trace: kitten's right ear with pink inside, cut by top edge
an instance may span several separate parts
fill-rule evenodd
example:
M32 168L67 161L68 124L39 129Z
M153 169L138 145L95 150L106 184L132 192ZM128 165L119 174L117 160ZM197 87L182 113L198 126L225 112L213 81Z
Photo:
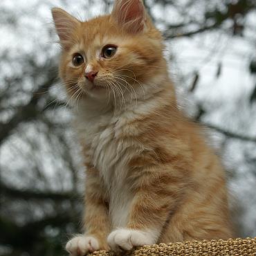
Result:
M146 12L143 0L116 0L111 16L128 33L139 33L145 28Z

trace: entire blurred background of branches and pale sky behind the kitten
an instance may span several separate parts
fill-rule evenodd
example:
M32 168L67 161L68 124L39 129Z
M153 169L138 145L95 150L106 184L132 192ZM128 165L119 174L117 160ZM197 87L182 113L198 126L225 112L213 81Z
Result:
M80 231L83 167L57 78L51 8L88 19L112 1L1 0L0 255L66 255ZM237 237L256 236L256 1L147 0L180 107L209 127Z

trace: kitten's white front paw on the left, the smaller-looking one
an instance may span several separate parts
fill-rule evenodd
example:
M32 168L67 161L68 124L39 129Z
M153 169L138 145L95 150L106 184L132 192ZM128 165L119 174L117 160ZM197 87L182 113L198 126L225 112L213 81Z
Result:
M66 243L66 250L72 256L83 256L99 250L99 243L94 237L79 235Z

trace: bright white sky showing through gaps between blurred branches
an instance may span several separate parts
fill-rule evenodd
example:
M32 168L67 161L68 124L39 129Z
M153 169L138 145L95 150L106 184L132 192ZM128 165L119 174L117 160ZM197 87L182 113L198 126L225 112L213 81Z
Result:
M88 6L88 1L82 0L1 0L0 9L5 9L6 15L13 12L17 17L17 26L11 26L4 21L5 17L0 19L3 23L0 26L0 54L8 53L11 57L10 62L1 64L0 80L4 75L12 76L23 72L21 60L24 55L34 55L38 62L44 63L49 56L58 53L59 48L53 44L57 36L48 35L48 30L53 28L52 7L65 8L76 17L83 18L99 14L102 10L100 5L88 10L86 3ZM160 10L161 8L156 7L154 14L158 16ZM196 10L192 10L193 12ZM165 14L167 19L179 23L179 17L173 10L165 10ZM252 29L246 30L246 35L255 39L256 12L248 15L247 23ZM249 62L256 55L255 41L248 42L238 37L231 38L227 33L212 32L192 39L174 39L167 44L167 51L172 53L175 59L175 65L170 65L170 72L177 86L183 90L188 88L191 84L190 74L199 70L199 84L192 99L188 100L202 102L208 109L204 120L230 131L246 133L248 136L256 136L256 105L248 105L248 98L256 84L256 77L248 71ZM216 78L219 62L222 63L222 70L220 77ZM181 84L180 78L186 76L187 82ZM241 158L239 163L243 160L243 145L239 141L228 145L226 157L230 167L237 167L237 158ZM256 179L243 165L237 172L239 179L232 181L230 185L247 209L245 217L248 217L248 221L245 225L250 230L253 225L256 226ZM251 232L256 235L256 230Z

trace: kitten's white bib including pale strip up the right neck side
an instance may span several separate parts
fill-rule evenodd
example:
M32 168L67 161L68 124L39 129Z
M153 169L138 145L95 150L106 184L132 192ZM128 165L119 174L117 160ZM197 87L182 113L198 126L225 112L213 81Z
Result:
M134 139L138 127L134 120L155 111L161 104L161 97L138 100L129 104L122 113L113 113L106 102L80 102L77 110L76 128L86 145L86 156L100 173L109 194L109 213L113 227L125 227L129 208L134 198L127 182L127 163L145 150L144 145Z

